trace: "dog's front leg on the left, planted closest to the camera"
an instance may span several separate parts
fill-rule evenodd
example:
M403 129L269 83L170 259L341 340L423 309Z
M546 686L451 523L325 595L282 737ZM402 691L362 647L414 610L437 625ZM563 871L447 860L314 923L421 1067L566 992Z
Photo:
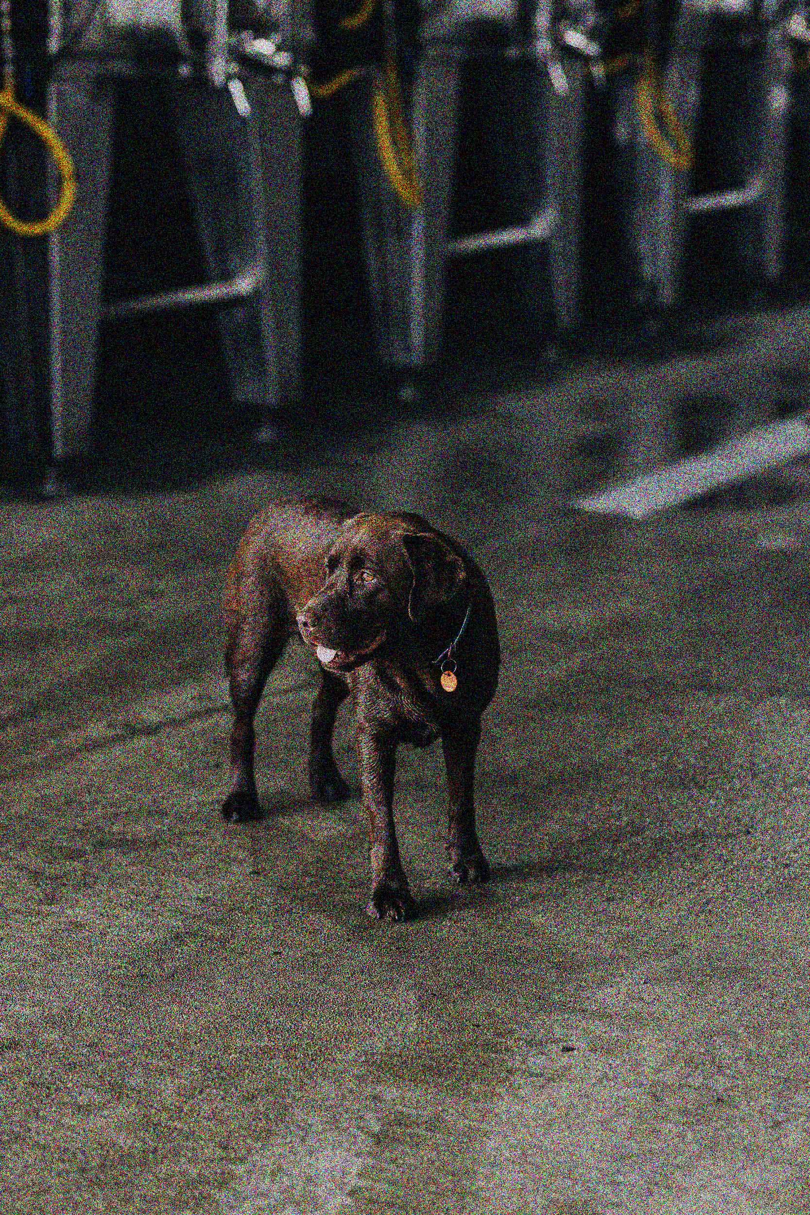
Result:
M372 898L367 911L375 920L406 920L414 904L393 825L396 741L380 729L358 723L357 756L372 844Z

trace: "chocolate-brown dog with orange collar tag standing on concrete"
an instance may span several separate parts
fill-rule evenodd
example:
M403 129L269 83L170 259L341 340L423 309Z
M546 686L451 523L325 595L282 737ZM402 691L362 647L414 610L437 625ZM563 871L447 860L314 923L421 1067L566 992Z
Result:
M349 796L332 751L335 714L351 693L372 844L369 915L413 910L393 825L400 742L441 736L449 784L447 850L458 882L483 882L472 781L481 714L500 652L486 578L454 541L418 515L358 514L322 499L272 504L239 544L225 598L234 720L233 786L222 814L259 816L254 716L267 676L296 632L321 662L310 782L319 802Z

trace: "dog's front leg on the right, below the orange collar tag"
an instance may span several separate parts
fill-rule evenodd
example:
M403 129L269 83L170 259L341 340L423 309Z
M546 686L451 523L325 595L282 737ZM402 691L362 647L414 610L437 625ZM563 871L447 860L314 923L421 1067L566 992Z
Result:
M489 877L489 865L475 830L475 756L480 738L480 718L442 730L451 801L447 854L451 876L460 885L486 882Z

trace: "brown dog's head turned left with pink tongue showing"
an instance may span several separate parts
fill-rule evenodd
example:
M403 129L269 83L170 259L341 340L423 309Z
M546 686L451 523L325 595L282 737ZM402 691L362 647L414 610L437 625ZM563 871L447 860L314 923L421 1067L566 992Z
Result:
M351 671L403 626L419 625L466 583L464 561L421 520L356 515L327 554L327 581L298 616L330 671Z

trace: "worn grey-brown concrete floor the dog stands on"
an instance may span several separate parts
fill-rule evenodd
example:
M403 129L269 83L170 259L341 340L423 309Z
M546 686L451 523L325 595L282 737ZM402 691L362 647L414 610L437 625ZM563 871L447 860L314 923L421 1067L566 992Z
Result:
M595 392L806 400L806 332L743 320L188 492L0 505L4 1215L810 1211L810 507L561 509ZM364 915L358 802L307 799L299 649L267 816L217 816L223 569L315 490L423 510L495 593L493 882L451 889L441 756L403 750L404 926ZM355 780L346 720L338 752Z

